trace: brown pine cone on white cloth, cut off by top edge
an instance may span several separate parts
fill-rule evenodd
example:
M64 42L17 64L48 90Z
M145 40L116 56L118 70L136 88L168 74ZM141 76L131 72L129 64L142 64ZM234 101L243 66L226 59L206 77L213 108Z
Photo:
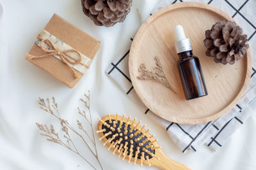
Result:
M84 14L96 25L111 27L123 22L131 10L132 0L81 0Z

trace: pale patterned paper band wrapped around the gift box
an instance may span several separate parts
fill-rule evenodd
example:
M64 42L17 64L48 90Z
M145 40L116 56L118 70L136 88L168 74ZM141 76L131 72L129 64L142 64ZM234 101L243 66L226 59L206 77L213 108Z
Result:
M40 33L40 36L42 37L42 39L49 39L50 41L52 41L52 44L54 46L56 46L57 48L59 48L60 50L72 50L73 48L65 43L63 43L63 41L61 41L60 39L56 38L55 36L53 36L50 32L44 30ZM36 42L35 44L38 45L38 46L41 46L40 43L41 40L40 39L36 39ZM49 46L47 46L45 43L44 43L44 48L47 49L49 48ZM48 49L48 50L51 50L51 49ZM73 67L74 69L76 69L77 71L81 72L81 73L86 73L87 69L90 67L90 65L92 64L92 59L86 57L85 55L83 55L83 53L80 53L79 54L81 55L81 62L78 63L78 64L71 64L70 62L68 62L67 64L71 67ZM70 55L74 58L76 58L77 54L76 53L70 53ZM54 57L56 57L57 59L61 60L60 59L60 56L58 55L53 55Z

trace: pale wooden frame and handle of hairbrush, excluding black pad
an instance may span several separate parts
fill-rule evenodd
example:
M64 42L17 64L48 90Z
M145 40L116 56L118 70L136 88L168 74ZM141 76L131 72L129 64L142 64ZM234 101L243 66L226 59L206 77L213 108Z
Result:
M101 118L101 120L103 120L104 122L107 122L109 120L109 118L111 118L111 120L122 120L121 116L117 116L116 115L108 115L106 117ZM129 122L129 125L132 124L132 120L129 118L124 118L124 122ZM98 124L98 131L102 130L102 122L99 121ZM135 122L135 124L137 124ZM141 129L141 125L138 125L137 129ZM145 129L143 129L141 132L145 133L145 136L147 136L147 138L150 138L150 136L152 136L149 132L146 132ZM104 136L103 132L99 132L99 136L102 137ZM150 138L150 140L152 141L154 138ZM107 141L107 138L103 138L102 139L103 143L105 143ZM127 139L127 141L129 141L129 138ZM106 143L106 145L109 147L111 144L110 143ZM154 143L152 143L152 145L154 145L155 147L159 146L159 144L157 143L157 141L155 141ZM141 146L143 147L143 146ZM145 146L144 146L145 147ZM111 150L114 150L113 147L111 147ZM117 153L118 155L118 153ZM126 159L128 159L128 157L125 157ZM131 159L132 162L134 162L134 157L132 157ZM137 159L136 163L140 164L141 160ZM166 169L166 170L189 170L189 167L180 164L179 162L176 162L175 160L170 159L169 157L167 157L167 155L165 155L165 153L163 152L163 150L161 148L157 148L155 150L155 156L152 157L151 159L149 159L150 162L150 166L156 166L159 167L161 169ZM149 166L148 161L147 160L143 160L143 164Z

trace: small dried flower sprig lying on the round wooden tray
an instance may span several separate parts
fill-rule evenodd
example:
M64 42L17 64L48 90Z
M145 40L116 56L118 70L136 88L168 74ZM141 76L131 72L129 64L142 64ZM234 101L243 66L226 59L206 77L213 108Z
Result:
M138 71L141 73L140 76L137 76L139 80L154 80L159 83L162 83L164 86L171 89L170 84L166 80L166 77L163 72L163 67L161 66L160 60L158 57L155 57L156 66L154 67L154 71L149 71L145 64L141 64Z

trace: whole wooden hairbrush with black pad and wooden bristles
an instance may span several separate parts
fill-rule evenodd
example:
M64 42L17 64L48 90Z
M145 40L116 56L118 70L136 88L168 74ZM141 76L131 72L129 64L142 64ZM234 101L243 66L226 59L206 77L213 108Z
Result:
M118 113L99 118L99 140L108 146L108 150L113 150L113 155L117 153L118 158L122 156L122 160L128 159L128 163L132 161L134 165L138 162L141 166L146 164L161 169L189 169L167 157L154 135L148 132L150 129L146 130L146 125L141 127L141 121L136 123L136 118L130 118L120 117Z

